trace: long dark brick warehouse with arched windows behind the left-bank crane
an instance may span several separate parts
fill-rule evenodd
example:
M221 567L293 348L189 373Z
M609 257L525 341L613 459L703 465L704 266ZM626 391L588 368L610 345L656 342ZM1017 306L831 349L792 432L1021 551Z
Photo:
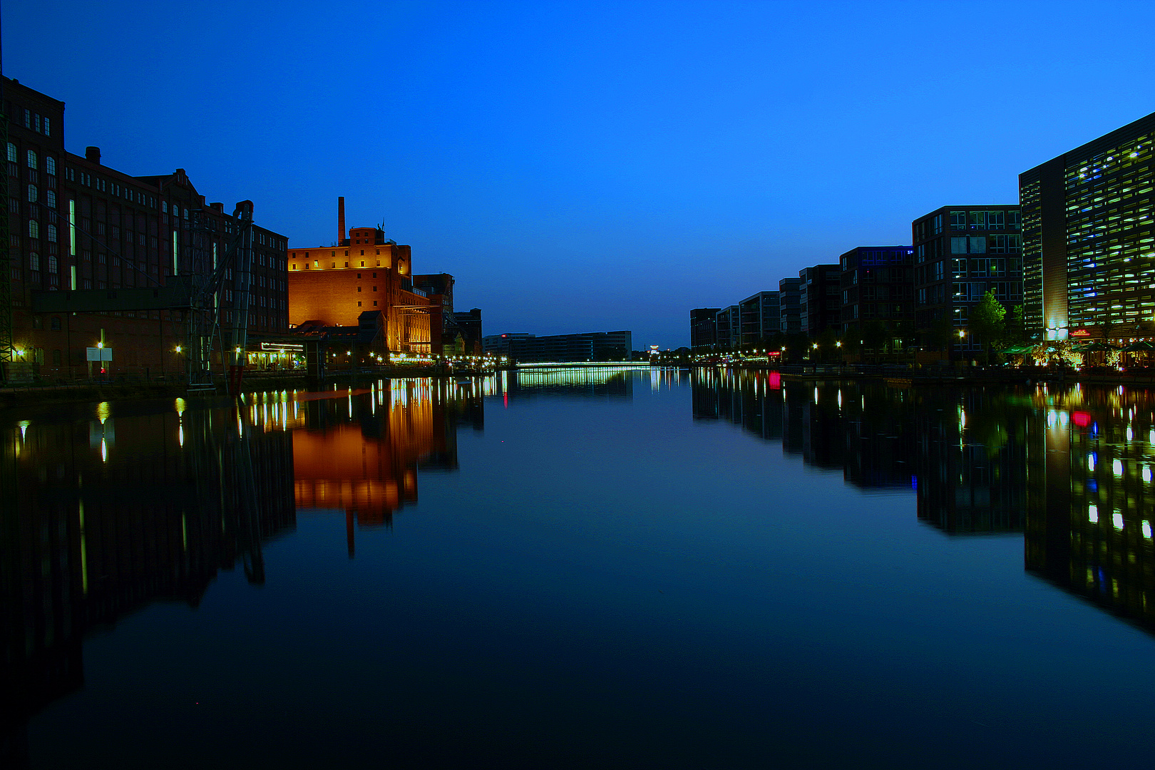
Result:
M85 349L103 341L111 374L177 373L188 334L182 309L116 309L107 290L158 289L176 275L206 275L223 259L238 219L206 204L182 169L134 177L102 163L98 148L65 150L62 102L5 80L9 249L0 313L12 320L14 376L87 373ZM288 329L284 236L254 226L249 332ZM231 335L241 276L228 270L215 297ZM105 290L107 312L44 312L52 292ZM0 339L0 346L7 346ZM6 357L7 351L0 351Z

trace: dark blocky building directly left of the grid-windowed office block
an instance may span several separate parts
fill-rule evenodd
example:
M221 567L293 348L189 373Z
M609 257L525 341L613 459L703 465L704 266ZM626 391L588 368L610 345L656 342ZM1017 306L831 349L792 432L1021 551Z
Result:
M859 246L839 257L842 268L842 331L878 321L909 332L915 320L915 249Z

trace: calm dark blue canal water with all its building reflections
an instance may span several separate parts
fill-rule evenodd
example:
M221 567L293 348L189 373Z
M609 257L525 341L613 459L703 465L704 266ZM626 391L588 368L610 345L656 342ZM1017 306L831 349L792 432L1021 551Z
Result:
M0 413L0 765L1146 765L1153 411L593 371Z

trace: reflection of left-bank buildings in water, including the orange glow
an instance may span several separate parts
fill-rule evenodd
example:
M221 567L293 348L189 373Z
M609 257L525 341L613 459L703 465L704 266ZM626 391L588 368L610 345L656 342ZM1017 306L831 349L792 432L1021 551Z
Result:
M263 583L263 544L298 514L340 511L352 556L355 524L416 502L418 470L457 468L485 389L379 381L0 426L0 765L24 762L32 713L83 685L95 629L158 600L195 607L221 569Z

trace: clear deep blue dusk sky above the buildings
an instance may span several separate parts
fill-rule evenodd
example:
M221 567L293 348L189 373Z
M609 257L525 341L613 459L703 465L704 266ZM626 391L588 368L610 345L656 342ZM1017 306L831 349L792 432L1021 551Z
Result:
M725 306L1155 111L1153 3L3 5L73 152L292 246L383 223L486 334ZM46 30L59 47L45 46Z

